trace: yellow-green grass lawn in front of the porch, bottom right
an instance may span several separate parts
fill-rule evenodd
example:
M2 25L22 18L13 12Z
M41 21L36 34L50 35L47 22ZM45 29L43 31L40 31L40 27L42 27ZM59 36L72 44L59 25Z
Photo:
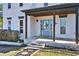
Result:
M65 49L42 49L35 53L33 56L77 56L79 54L75 51Z

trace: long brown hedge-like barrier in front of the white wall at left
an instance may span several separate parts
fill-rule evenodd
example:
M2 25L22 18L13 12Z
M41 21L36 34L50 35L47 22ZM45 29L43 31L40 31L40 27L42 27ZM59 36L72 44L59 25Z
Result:
M19 39L19 33L17 31L3 31L0 30L0 41L12 41L16 42Z

